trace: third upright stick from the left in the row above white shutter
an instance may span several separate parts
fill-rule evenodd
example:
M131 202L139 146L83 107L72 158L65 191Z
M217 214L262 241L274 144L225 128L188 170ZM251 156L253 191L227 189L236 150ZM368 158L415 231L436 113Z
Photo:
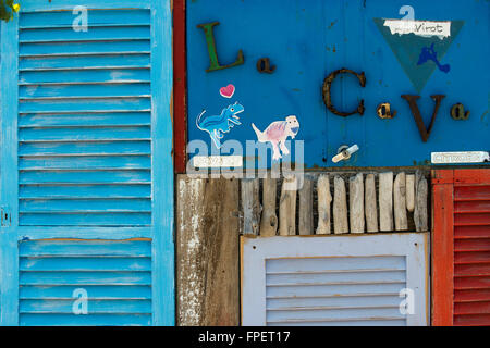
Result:
M296 189L295 175L284 177L279 202L279 235L292 236L296 234Z

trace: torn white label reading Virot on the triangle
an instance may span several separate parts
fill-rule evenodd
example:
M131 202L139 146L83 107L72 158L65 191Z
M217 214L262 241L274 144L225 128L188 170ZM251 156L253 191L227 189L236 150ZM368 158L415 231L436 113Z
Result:
M384 26L392 35L415 34L419 36L438 36L440 39L451 36L451 22L384 20Z

